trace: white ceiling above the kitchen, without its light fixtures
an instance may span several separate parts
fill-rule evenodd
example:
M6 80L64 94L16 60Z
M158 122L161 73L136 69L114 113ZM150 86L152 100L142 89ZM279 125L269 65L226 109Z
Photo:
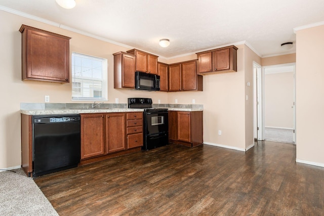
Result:
M55 0L0 0L0 10L13 9L167 59L244 42L260 57L295 53L293 29L324 21L323 0L75 2L75 8L63 9ZM161 38L170 39L170 46L161 48ZM288 41L295 46L282 50L280 44Z

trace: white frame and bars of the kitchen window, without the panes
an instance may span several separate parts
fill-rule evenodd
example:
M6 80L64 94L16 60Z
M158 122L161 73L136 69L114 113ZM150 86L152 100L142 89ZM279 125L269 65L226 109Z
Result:
M75 77L75 74L74 74L74 71L75 70L75 64L74 62L72 61L73 59L73 56L78 56L78 57L82 57L82 58L89 58L89 59L93 59L93 60L97 60L97 61L100 61L101 62L101 66L102 66L102 70L101 70L101 74L102 74L102 77L101 79L96 79L96 78L76 78ZM93 68L92 68L93 69ZM74 74L74 75L73 75ZM84 76L85 77L85 76ZM77 80L79 79L79 80ZM82 81L83 80L90 80L90 81L101 81L101 91L102 91L102 96L101 98L97 98L97 97L82 97L83 95L83 91L84 91L84 88L82 88ZM73 91L75 89L73 89L73 83L75 82L79 82L80 83L80 94L81 94L81 97L78 97L78 96L73 96ZM76 53L76 52L72 52L71 54L71 100L72 101L108 101L108 60L105 59L105 58L101 58L101 57L96 57L96 56L90 56L90 55L86 55L86 54L82 54L82 53ZM90 91L93 91L92 94L94 94L94 92L96 92L98 89L96 88L90 88L89 89Z

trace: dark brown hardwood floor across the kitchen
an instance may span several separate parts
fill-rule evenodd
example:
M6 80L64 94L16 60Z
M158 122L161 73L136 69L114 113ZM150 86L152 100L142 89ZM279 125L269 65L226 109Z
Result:
M292 144L168 145L34 178L60 215L324 215L324 168Z

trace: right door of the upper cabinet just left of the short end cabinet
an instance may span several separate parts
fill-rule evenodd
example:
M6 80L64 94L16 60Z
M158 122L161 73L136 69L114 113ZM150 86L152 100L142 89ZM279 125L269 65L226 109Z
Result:
M181 64L182 91L197 89L196 61Z

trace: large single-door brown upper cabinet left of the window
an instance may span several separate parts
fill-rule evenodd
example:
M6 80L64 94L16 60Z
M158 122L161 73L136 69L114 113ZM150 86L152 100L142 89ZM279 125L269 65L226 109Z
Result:
M70 37L22 25L22 80L69 82Z

